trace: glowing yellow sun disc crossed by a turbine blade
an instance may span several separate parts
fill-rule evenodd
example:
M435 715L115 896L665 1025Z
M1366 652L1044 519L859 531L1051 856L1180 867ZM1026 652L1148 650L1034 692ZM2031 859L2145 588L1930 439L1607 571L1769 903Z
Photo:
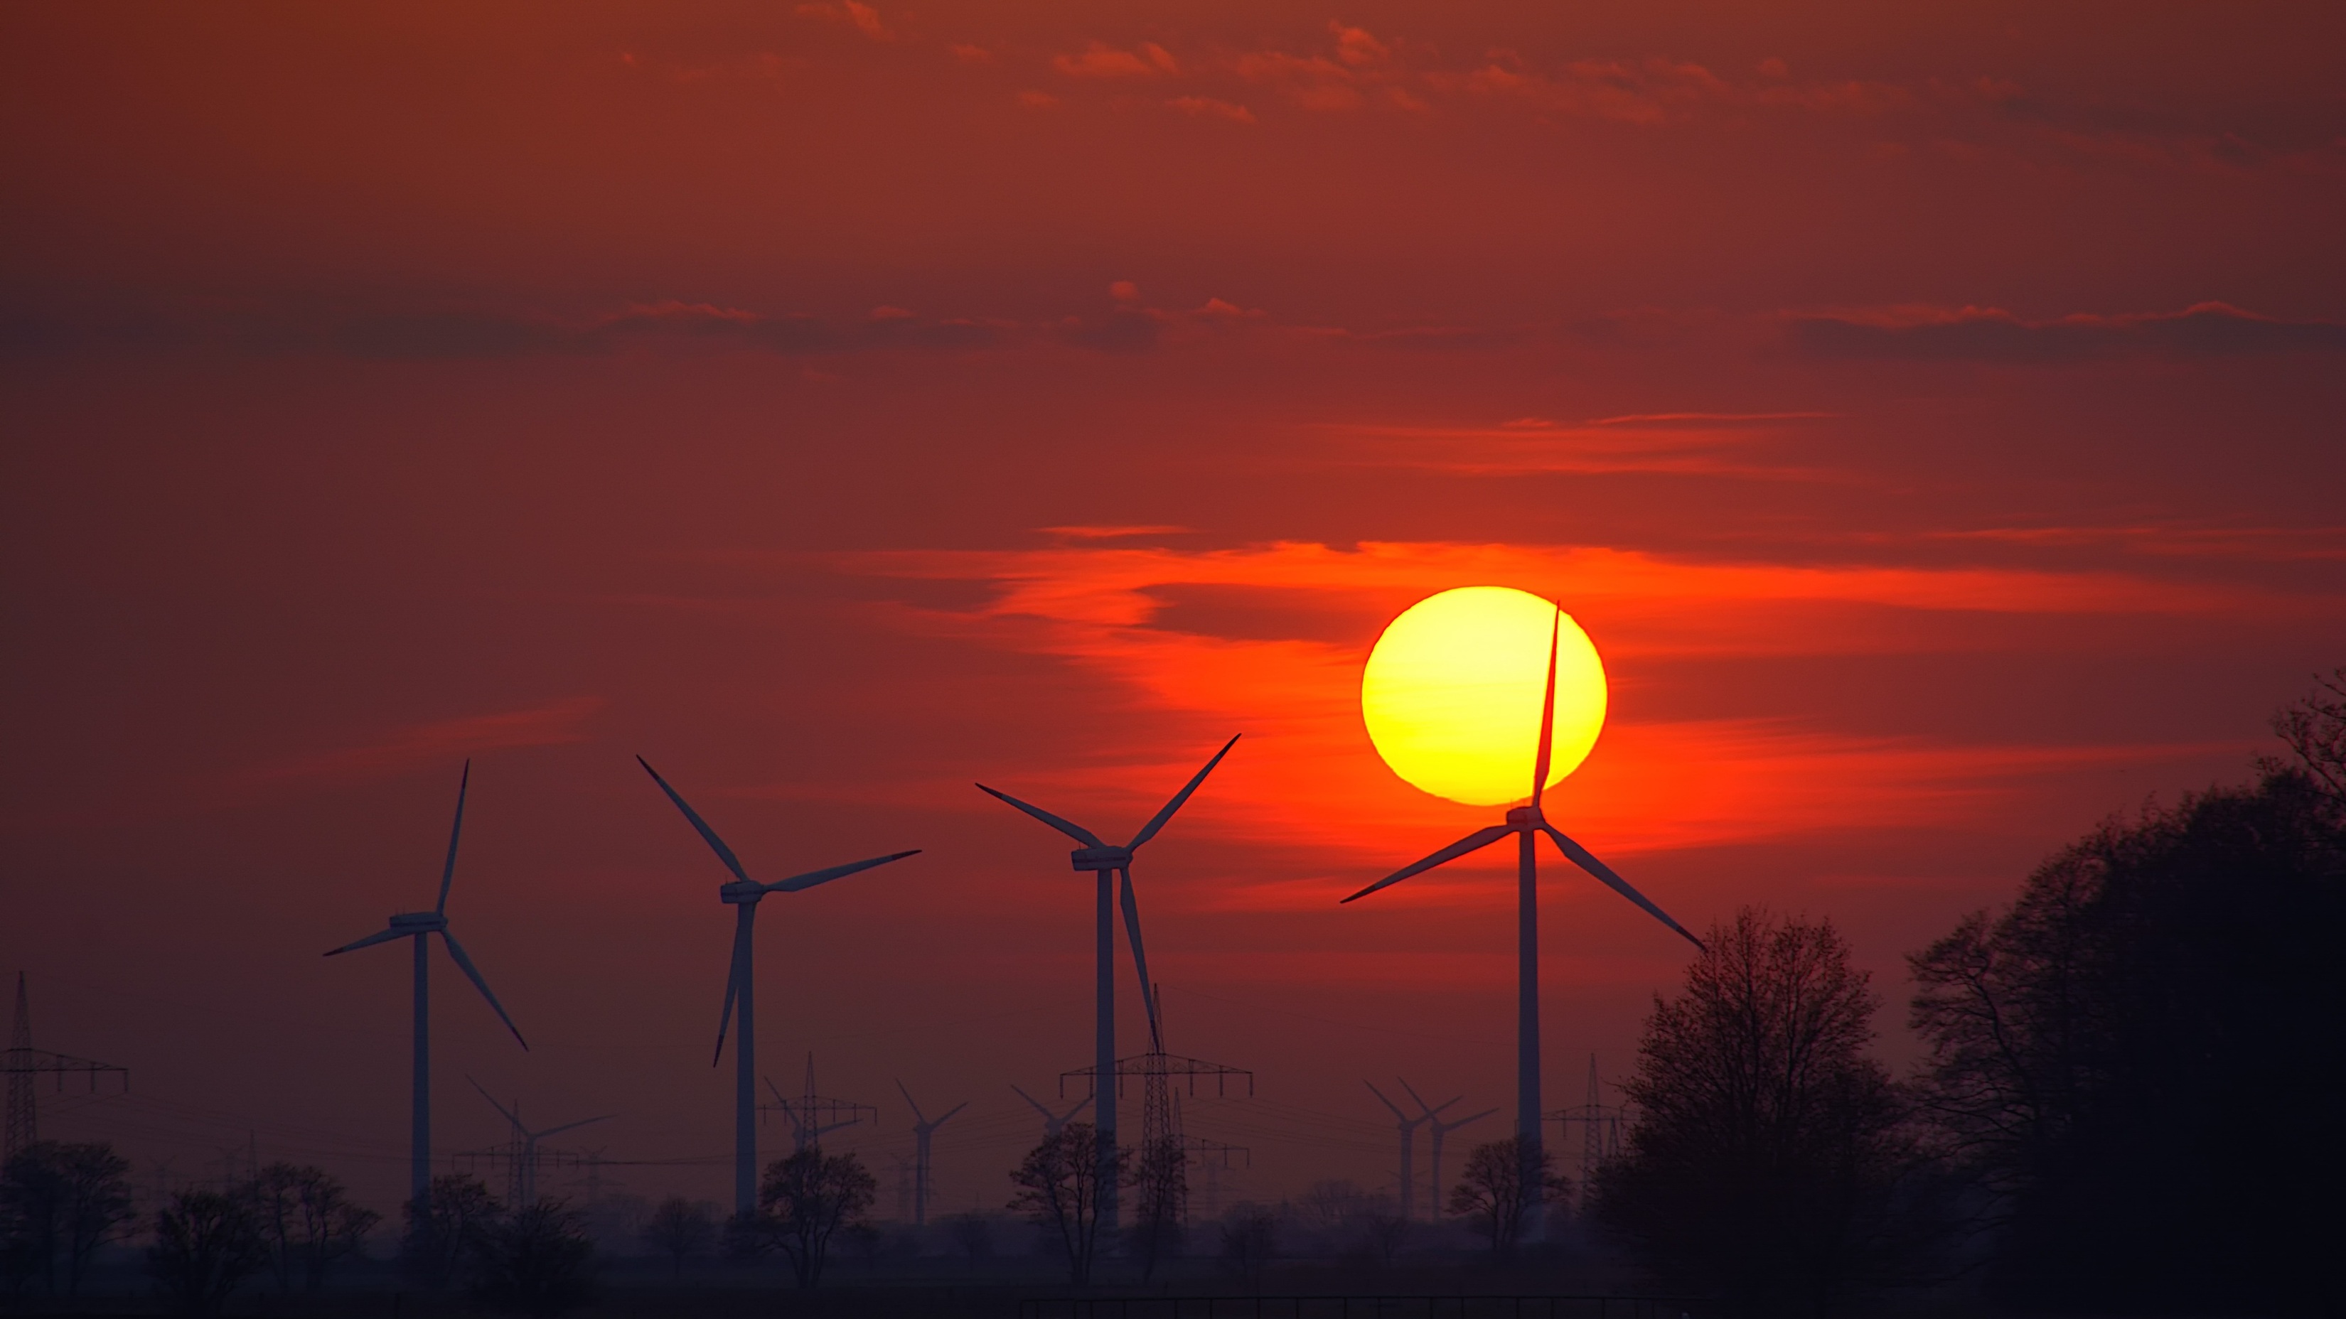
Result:
M1555 606L1513 587L1426 596L1384 627L1361 671L1361 721L1377 756L1438 798L1499 805L1532 796L1539 702ZM1605 728L1605 662L1569 615L1555 641L1555 786Z

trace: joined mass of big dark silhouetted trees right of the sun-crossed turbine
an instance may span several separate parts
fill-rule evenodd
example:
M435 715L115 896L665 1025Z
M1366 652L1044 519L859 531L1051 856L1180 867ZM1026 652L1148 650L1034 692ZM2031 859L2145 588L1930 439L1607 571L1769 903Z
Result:
M2290 760L2064 847L1910 958L1926 1056L1830 922L1743 911L1656 1000L1598 1225L1745 1314L2334 1312L2346 1227L2346 669Z

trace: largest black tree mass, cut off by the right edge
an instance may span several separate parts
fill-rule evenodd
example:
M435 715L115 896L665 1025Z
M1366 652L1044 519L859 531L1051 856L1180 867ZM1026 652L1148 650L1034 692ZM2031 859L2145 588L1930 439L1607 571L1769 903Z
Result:
M2334 1305L2346 709L2294 716L2304 767L2104 824L1912 958L1924 1094L2013 1298Z

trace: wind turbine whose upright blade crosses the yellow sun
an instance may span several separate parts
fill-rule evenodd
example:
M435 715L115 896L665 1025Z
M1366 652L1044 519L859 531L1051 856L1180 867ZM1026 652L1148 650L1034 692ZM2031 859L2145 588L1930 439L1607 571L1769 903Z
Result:
M1612 866L1598 861L1586 847L1565 838L1548 819L1539 812L1539 793L1548 786L1548 742L1555 737L1555 645L1562 636L1565 610L1555 608L1555 622L1548 629L1548 695L1539 704L1539 751L1532 758L1532 796L1525 805L1511 807L1506 812L1506 824L1492 824L1490 828L1478 828L1466 838L1459 838L1450 847L1433 852L1422 861L1412 861L1391 875L1368 885L1365 890L1347 897L1344 901L1358 901L1382 887L1398 885L1401 880L1431 871L1445 861L1457 861L1469 852L1480 852L1492 843L1516 836L1516 1141L1523 1152L1525 1176L1537 1176L1539 1166L1539 836L1546 833L1555 843L1555 850L1565 854L1567 861L1595 875L1605 887L1626 897L1628 901L1645 908L1647 915L1680 932L1696 948L1703 946L1684 925L1670 920L1670 913L1661 911L1645 894L1628 887L1628 880L1616 875ZM1534 1204L1525 1216L1525 1235L1539 1227L1539 1206Z

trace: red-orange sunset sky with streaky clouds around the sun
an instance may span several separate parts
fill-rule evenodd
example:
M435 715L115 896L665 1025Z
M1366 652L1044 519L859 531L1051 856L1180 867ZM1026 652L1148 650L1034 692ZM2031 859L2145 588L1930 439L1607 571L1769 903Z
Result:
M683 5L0 16L0 967L134 1068L56 1117L396 1192L450 911L479 1075L718 1195L727 915L788 1089L1089 1054L1089 894L969 782L1128 831L1192 1115L1386 1176L1361 1077L1499 1103L1499 866L1356 683L1443 587L1560 596L1614 716L1551 800L1689 925L1900 958L2346 660L2330 5ZM1677 941L1558 873L1548 1094ZM779 911L777 911L779 908ZM1126 981L1128 983L1128 981ZM1138 1014L1128 1021L1138 1026ZM863 1136L906 1145L901 1105ZM772 1138L779 1138L774 1131Z

